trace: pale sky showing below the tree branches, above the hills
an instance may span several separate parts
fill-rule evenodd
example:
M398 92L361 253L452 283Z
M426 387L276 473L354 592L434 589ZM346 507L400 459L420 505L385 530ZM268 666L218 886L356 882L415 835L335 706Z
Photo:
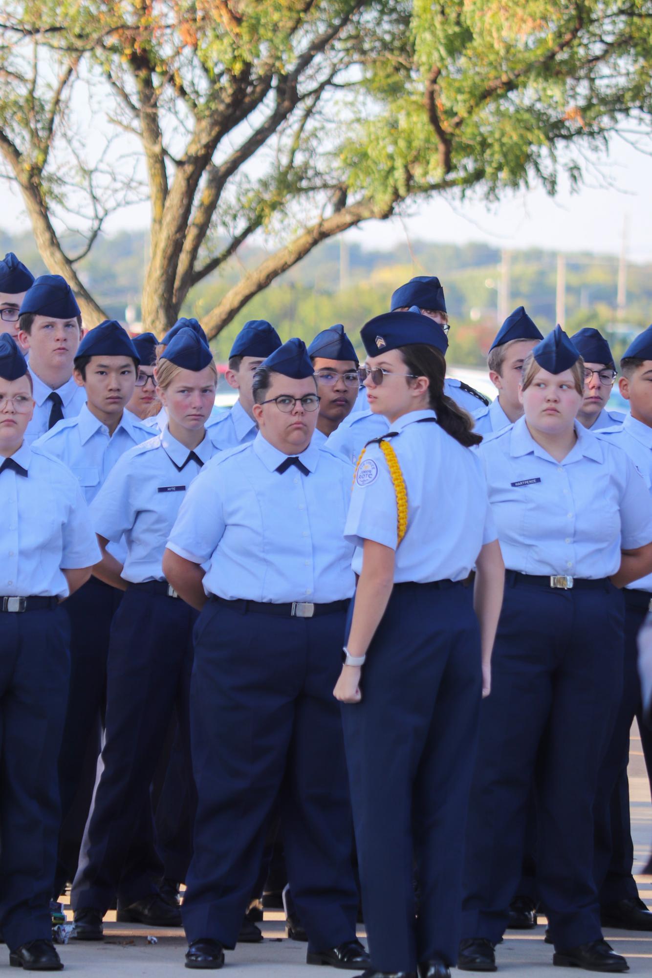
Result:
M9 232L27 230L18 192L4 182L0 189L0 227ZM131 207L115 215L107 230L142 228L148 219L147 205ZM652 156L616 139L609 155L600 160L599 172L588 174L579 193L571 193L562 177L555 198L539 188L506 194L498 204L442 198L414 206L403 218L367 222L347 236L369 249L391 250L407 239L619 254L624 226L628 259L652 261Z

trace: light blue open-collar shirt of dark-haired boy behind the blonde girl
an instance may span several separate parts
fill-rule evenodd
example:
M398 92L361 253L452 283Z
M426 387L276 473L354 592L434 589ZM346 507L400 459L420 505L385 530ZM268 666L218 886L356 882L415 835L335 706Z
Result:
M100 490L120 456L152 437L148 427L130 411L124 411L113 434L83 404L76 418L66 418L46 431L34 448L54 455L76 475L87 503Z

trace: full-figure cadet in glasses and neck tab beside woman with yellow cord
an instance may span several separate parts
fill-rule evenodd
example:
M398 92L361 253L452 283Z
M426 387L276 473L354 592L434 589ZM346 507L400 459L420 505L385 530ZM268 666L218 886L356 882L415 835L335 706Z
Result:
M343 537L352 470L311 444L319 397L300 339L264 361L253 399L258 434L202 469L163 558L167 580L201 609L191 686L198 805L183 905L186 963L219 968L224 949L235 946L279 797L308 962L365 968L332 696L354 587Z

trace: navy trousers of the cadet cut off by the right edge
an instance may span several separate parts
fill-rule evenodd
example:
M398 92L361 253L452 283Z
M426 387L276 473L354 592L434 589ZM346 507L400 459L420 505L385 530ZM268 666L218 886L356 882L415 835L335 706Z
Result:
M647 614L652 595L623 592L625 596L625 669L623 696L614 732L600 768L595 805L595 883L600 904L638 896L631 875L633 844L630 826L630 730L634 717L645 756L648 778L652 779L652 731L642 722L636 637Z

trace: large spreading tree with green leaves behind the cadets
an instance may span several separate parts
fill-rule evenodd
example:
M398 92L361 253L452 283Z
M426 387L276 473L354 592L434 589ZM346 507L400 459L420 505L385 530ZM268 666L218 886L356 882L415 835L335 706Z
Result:
M39 251L77 272L149 199L162 333L252 236L210 335L316 244L436 194L496 198L649 128L652 0L6 0L0 154ZM65 252L72 220L85 244ZM257 240L257 239L254 239Z

